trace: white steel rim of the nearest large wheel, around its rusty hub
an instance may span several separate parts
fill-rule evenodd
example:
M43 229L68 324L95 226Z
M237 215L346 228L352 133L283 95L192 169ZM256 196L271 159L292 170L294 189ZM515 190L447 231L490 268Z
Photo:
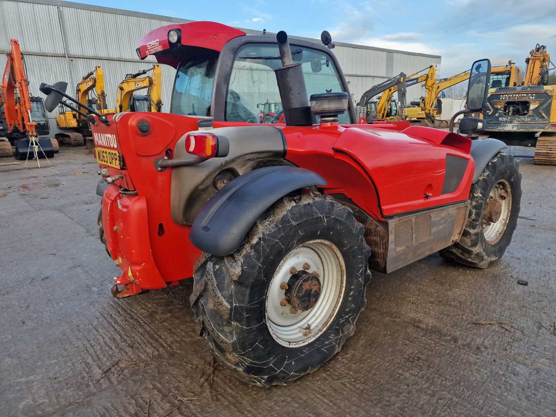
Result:
M290 312L291 305L280 305L284 299L282 282L290 279L290 269L316 271L321 293L315 305L306 311ZM345 262L340 250L327 240L311 240L291 250L280 261L270 281L265 300L266 325L280 345L299 347L309 344L324 332L339 310L345 290Z

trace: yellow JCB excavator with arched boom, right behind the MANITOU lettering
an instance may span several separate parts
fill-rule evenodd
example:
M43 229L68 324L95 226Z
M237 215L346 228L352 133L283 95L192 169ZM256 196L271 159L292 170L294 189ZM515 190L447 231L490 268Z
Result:
M152 71L151 76L141 77ZM116 111L120 112L161 112L162 111L162 70L155 64L135 74L127 74L118 85ZM146 96L134 95L135 91L148 89Z

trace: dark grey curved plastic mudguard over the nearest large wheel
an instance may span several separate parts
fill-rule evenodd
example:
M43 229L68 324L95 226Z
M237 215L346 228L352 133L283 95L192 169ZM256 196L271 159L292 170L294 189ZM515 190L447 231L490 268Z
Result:
M326 185L326 180L304 168L273 166L247 172L222 187L203 206L193 221L189 240L211 255L230 255L257 218L279 198L316 185Z

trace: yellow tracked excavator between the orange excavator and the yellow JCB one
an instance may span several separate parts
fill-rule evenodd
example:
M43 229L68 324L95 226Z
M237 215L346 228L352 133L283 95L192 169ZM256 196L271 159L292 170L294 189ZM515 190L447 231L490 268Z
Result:
M90 92L95 91L96 97L90 97ZM102 67L95 67L77 83L75 97L83 105L96 107L101 114L115 113L106 105L106 92ZM67 111L64 106L59 106L56 116L56 124L62 133L54 135L58 142L66 146L82 146L85 143L84 136L91 136L91 128L87 116L77 111Z

